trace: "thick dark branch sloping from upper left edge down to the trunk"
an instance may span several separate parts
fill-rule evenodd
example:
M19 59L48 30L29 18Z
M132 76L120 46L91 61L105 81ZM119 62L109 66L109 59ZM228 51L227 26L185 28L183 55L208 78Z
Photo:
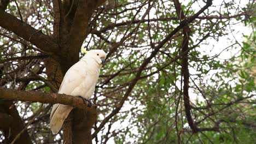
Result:
M48 35L2 10L0 10L0 26L30 41L43 51L57 52L58 50L58 45Z

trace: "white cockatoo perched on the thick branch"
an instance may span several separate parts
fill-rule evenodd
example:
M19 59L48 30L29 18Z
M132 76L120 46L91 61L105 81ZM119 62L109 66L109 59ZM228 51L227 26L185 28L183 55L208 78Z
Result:
M83 97L87 100L95 91L100 69L106 58L103 50L86 51L86 55L67 71L61 83L60 94ZM55 104L51 110L50 128L53 134L59 133L72 106Z

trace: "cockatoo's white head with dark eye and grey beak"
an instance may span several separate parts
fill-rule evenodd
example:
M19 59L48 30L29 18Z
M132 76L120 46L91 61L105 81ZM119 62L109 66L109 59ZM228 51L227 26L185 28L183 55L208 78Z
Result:
M99 65L102 65L106 59L106 52L103 50L90 50L86 52L85 57L90 57L94 59Z

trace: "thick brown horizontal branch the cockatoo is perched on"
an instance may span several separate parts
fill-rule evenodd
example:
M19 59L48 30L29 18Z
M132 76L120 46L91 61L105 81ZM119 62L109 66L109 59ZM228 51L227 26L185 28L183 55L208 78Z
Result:
M36 91L18 91L9 88L0 88L0 99L20 100L50 104L65 104L79 109L89 109L88 103L79 97L58 93L43 93ZM86 103L86 104L84 104ZM93 107L96 107L95 105Z

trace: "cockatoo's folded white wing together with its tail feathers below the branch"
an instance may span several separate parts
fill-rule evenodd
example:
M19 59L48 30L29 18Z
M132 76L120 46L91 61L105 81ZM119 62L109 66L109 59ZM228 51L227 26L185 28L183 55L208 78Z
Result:
M79 61L69 68L64 76L58 93L72 95L74 89L79 87L86 78L86 65L87 63L85 61ZM59 133L63 122L72 109L72 106L62 104L55 104L53 106L50 115L50 128L51 131L53 131L53 134Z

